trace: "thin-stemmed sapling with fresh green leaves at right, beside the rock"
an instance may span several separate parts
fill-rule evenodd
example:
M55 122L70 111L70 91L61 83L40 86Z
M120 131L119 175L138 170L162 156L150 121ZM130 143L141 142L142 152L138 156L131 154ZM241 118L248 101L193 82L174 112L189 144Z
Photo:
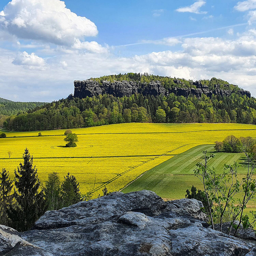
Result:
M207 155L207 151L203 152L203 157L201 157L203 161L202 163L197 163L197 168L194 170L195 176L204 185L207 199L206 210L209 214L212 228L214 229L215 223L219 223L219 230L222 232L223 221L228 221L230 223L229 234L232 228L235 227L233 235L236 235L241 223L243 226L248 226L249 217L244 217L243 212L246 204L256 198L256 181L253 179L255 174L253 156L247 153L244 148L241 150L245 153L248 164L248 172L241 181L238 180L237 169L239 165L236 162L233 165L225 164L223 172L217 173L214 168L208 166L208 160L213 158L214 155ZM237 199L238 194L242 197L242 200ZM239 223L235 225L234 222L237 219Z

